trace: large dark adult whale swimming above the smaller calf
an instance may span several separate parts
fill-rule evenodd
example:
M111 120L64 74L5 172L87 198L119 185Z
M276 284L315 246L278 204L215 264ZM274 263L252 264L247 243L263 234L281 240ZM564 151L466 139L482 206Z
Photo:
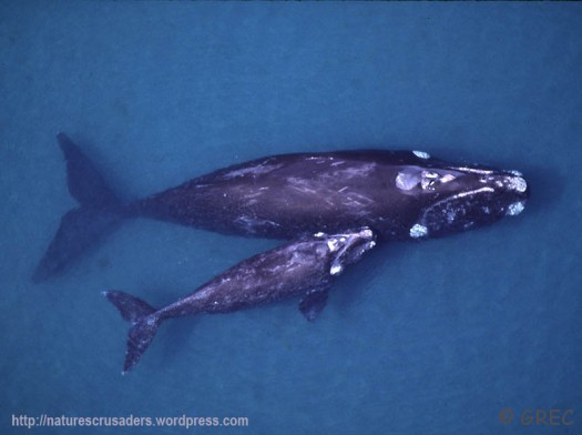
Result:
M267 156L122 203L63 133L68 212L34 273L65 271L126 218L275 239L368 226L379 241L422 240L519 214L529 188L517 171L447 163L419 151L337 151Z

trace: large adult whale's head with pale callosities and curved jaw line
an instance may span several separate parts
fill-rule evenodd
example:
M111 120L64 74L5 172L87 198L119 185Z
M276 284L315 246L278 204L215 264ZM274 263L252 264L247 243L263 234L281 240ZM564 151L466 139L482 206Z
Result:
M455 165L415 152L419 164L401 166L396 186L415 198L412 239L437 237L520 214L530 195L523 175L482 165Z

